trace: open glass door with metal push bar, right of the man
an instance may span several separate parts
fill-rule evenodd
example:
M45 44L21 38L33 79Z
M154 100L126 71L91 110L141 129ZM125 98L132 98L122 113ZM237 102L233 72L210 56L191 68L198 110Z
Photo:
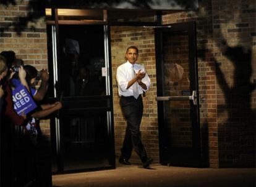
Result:
M195 23L157 28L156 72L161 164L200 166Z

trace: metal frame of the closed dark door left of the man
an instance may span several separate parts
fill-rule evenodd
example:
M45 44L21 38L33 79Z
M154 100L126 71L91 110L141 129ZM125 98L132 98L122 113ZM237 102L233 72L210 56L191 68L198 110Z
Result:
M52 38L52 54L51 58L53 58L53 81L54 84L58 82L58 84L61 84L61 80L58 79L58 74L60 73L59 68L59 24L58 24L58 11L56 9L52 9L52 15L54 17L55 24L51 25L51 38ZM108 25L103 25L104 29L104 46L105 46L105 67L107 69L107 76L106 76L106 96L103 96L101 98L109 98L109 105L111 105L110 111L107 111L107 125L108 125L108 137L109 137L109 145L111 147L109 148L109 164L111 167L102 167L102 168L92 168L92 169L77 169L77 170L64 170L64 162L62 161L62 150L63 150L63 143L61 141L62 136L62 119L59 119L58 117L54 118L54 127L55 129L52 130L51 133L54 133L54 136L51 135L51 137L55 137L55 140L53 141L56 144L56 151L57 151L57 165L58 165L58 172L55 173L70 173L70 172L80 172L80 171L87 171L87 170L100 170L100 169L114 169L116 168L116 162L115 162L115 149L114 149L114 122L113 122L113 98L111 95L113 95L112 88L112 71L111 71L111 52L110 52L110 30ZM54 98L61 97L61 90L56 89L54 87ZM99 97L97 97L99 98ZM52 98L53 99L53 98ZM53 123L53 122L51 122Z

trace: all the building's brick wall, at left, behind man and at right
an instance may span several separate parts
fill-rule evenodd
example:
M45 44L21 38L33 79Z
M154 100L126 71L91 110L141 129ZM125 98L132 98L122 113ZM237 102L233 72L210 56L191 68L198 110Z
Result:
M198 83L203 154L210 167L250 167L255 163L256 31L255 1L201 0L199 9L163 16L163 24L195 21L197 23ZM0 51L14 50L17 58L38 70L48 68L45 19L22 25L17 23L29 14L29 1L0 5ZM21 18L18 18L21 17ZM113 67L114 129L116 153L124 138L125 122L119 106L116 68L124 62L127 46L140 49L151 78L151 88L144 100L142 141L148 155L158 162L158 119L155 70L155 41L151 29L111 27ZM49 135L49 122L41 121ZM132 154L138 161L136 154Z

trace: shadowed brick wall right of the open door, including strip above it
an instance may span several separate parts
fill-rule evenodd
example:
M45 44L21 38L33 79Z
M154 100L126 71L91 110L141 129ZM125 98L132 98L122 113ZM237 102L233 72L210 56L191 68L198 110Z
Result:
M254 167L255 1L199 1L199 9L164 15L197 23L203 153L210 167Z

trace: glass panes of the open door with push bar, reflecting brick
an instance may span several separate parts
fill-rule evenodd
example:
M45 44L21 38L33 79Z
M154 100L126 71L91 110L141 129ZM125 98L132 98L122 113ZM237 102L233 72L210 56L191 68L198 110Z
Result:
M164 96L191 95L187 33L163 33ZM164 102L168 145L192 147L190 101Z

